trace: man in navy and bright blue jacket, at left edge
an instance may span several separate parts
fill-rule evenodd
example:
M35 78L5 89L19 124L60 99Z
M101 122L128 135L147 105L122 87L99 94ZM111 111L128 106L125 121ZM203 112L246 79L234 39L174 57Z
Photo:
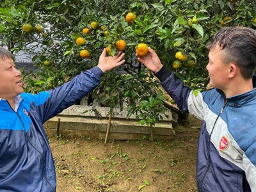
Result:
M72 81L36 95L23 93L12 54L0 47L0 191L56 191L51 148L43 124L90 93L100 76L122 65L124 53L106 57Z

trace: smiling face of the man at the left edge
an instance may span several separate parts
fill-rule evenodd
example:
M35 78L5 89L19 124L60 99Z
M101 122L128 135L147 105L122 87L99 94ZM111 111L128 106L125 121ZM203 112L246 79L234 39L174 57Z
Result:
M0 98L14 99L24 92L20 75L21 72L15 68L12 59L0 59Z

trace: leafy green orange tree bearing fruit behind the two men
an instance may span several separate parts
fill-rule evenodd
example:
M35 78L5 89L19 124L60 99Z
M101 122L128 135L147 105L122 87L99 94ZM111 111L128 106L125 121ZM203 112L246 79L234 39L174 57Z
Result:
M124 40L125 64L102 77L93 91L95 100L127 108L128 117L136 114L141 124L149 125L161 120L166 107L175 109L166 102L157 79L136 60L136 46L152 47L196 94L208 83L206 45L212 35L225 26L256 28L254 8L254 1L245 0L3 0L0 41L14 55L24 51L31 56L37 70L24 74L24 81L26 91L38 92L96 66L104 47L115 54L116 42ZM24 24L31 24L33 31L24 31ZM79 37L85 42L77 44ZM89 53L81 58L84 49ZM179 51L184 56L175 58ZM44 65L45 60L51 66ZM173 68L175 60L181 66Z

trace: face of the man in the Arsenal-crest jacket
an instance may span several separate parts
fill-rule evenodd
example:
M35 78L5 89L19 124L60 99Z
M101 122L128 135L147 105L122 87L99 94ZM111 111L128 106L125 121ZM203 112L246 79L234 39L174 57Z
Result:
M219 45L216 45L214 49L211 49L209 52L209 63L206 68L210 77L209 84L214 88L225 91L230 68L228 64L223 62L223 52L224 51L220 49Z

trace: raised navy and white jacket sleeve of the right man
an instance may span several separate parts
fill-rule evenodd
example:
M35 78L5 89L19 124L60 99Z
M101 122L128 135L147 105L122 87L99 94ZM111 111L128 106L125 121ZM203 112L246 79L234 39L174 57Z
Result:
M181 79L164 66L155 76L161 81L164 90L175 100L182 111L191 113L201 119L204 118L207 105L201 92L195 95L191 88L184 86Z

